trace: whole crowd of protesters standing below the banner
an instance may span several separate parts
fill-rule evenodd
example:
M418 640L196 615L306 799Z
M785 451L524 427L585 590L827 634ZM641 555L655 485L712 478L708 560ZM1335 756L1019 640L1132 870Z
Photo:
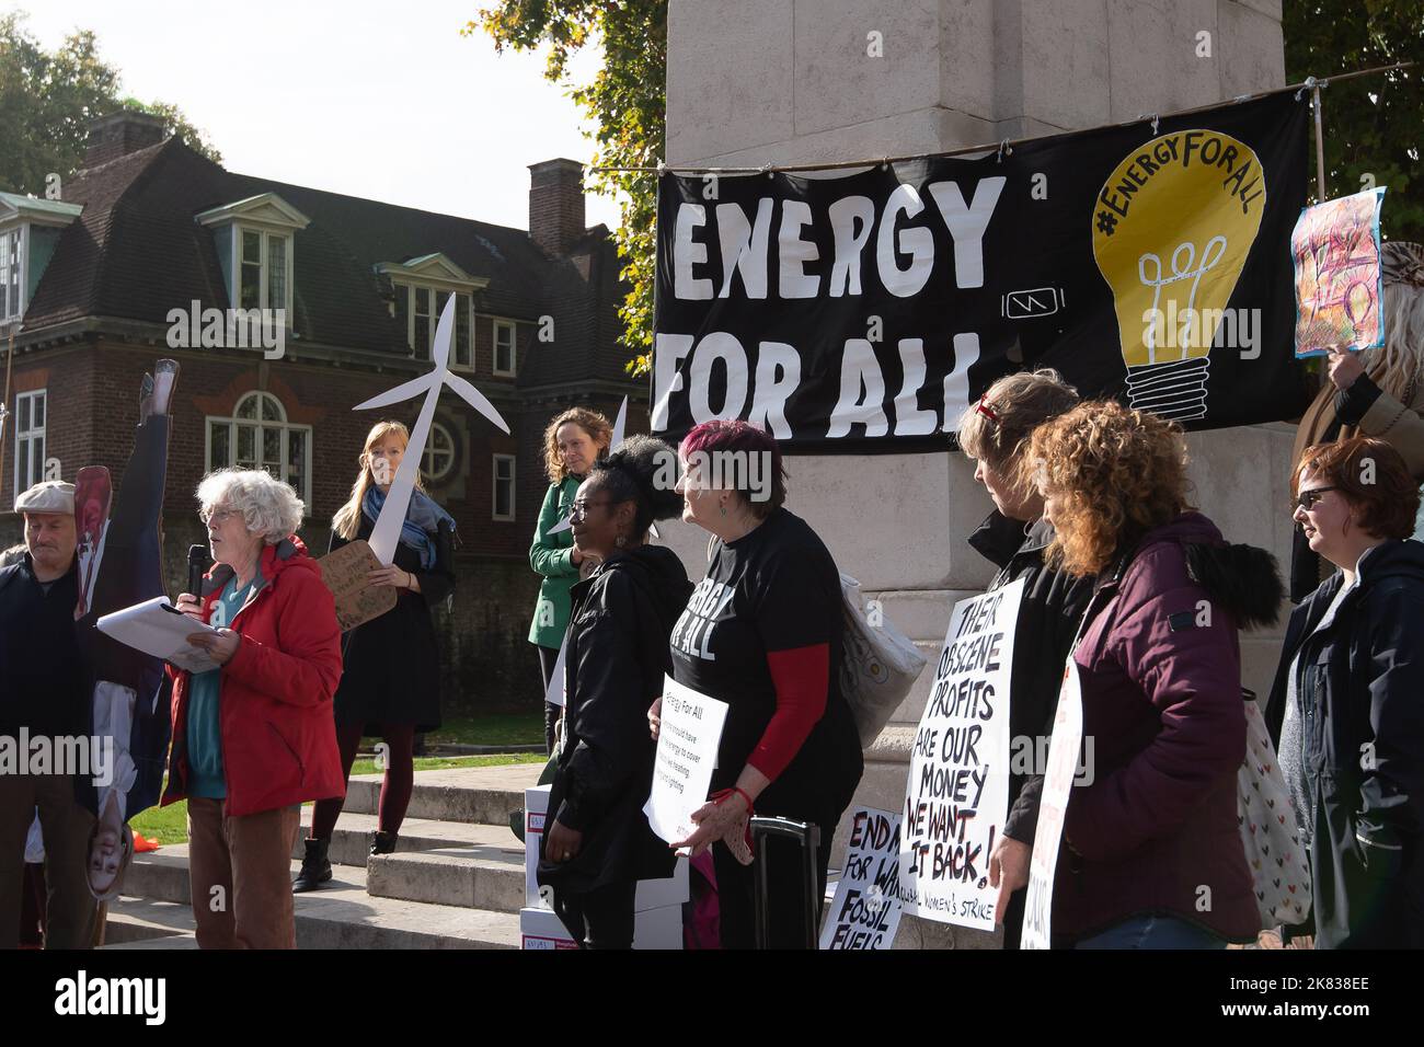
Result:
M1283 507L1297 605L1263 707L1289 795L1280 822L1310 885L1309 912L1266 930L1329 949L1424 946L1424 546L1411 540L1424 480L1424 249L1387 244L1384 278L1388 342L1333 355L1302 420ZM749 819L809 822L829 843L863 772L842 691L840 574L787 509L780 450L760 429L706 422L676 449L646 436L609 447L611 432L602 415L575 407L544 437L550 487L530 548L541 583L528 638L545 694L561 688L562 702L545 712L553 788L538 879L581 944L627 949L638 880L668 875L675 849L699 859L711 848L721 944L750 947ZM370 430L332 550L372 534L407 439L394 422ZM960 420L958 442L994 503L970 537L998 568L990 587L1025 583L1010 729L1051 734L1071 660L1095 741L1094 775L1065 809L1054 944L1260 940L1259 862L1237 808L1259 714L1242 688L1239 631L1277 620L1287 590L1276 563L1232 544L1190 504L1179 426L1114 400L1081 402L1052 370L995 382ZM762 456L768 481L708 473L718 454ZM303 506L292 487L265 472L219 470L197 496L215 563L177 607L214 627L191 642L215 668L168 667L162 802L188 801L198 944L293 947L292 895L332 877L328 848L363 736L387 748L370 853L396 846L414 735L440 724L431 607L456 583L454 521L413 493L393 563L369 577L396 590L394 608L343 635L296 536ZM74 489L38 484L16 509L26 546L0 567L0 689L31 698L0 702L0 732L77 732L93 671L75 641ZM709 536L696 584L651 540L655 521L676 516ZM681 840L654 836L642 812L666 675L728 705L712 792ZM33 701L40 692L47 699ZM1011 776L988 859L1005 947L1022 924L1042 788L1038 775ZM85 885L85 856L97 830L80 792L73 776L0 776L0 946L17 942L36 812L50 859L48 944L91 940L90 895L100 895L93 877ZM316 806L293 885L308 801ZM829 858L822 848L817 899ZM813 929L797 862L772 853L768 866L768 943L802 943ZM108 866L91 872L114 879ZM215 892L231 903L205 905Z

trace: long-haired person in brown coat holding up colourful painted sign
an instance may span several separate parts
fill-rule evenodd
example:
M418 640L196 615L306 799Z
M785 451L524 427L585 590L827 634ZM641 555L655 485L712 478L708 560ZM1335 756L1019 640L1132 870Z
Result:
M1384 283L1384 345L1341 350L1327 360L1330 380L1296 430L1294 473L1317 443L1373 436L1403 457L1424 481L1424 246L1390 241L1380 249ZM1296 528L1290 550L1290 598L1300 603L1334 573Z

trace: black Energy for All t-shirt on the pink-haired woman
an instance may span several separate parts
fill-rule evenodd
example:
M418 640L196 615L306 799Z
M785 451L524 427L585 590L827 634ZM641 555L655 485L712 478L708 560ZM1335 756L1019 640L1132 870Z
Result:
M830 694L826 712L800 752L758 801L760 813L850 802L860 779L860 739L840 692L840 573L824 543L785 509L731 543L716 543L706 578L692 591L672 628L672 675L679 684L726 702L715 789L732 785L776 711L766 655L827 644Z

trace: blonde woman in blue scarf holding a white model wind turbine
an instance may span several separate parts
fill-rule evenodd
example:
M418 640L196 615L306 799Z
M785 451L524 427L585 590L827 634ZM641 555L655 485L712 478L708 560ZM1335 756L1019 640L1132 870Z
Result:
M372 427L357 459L360 473L352 496L332 517L329 551L370 537L409 440L399 422L377 422ZM387 748L372 855L396 849L414 788L416 735L440 726L440 650L430 608L454 590L454 520L424 493L417 472L394 561L369 575L369 584L396 590L396 605L343 637L346 670L336 691L342 775L350 779L363 736L380 735ZM343 795L316 805L293 892L316 890L332 879L328 849L345 801L343 789Z

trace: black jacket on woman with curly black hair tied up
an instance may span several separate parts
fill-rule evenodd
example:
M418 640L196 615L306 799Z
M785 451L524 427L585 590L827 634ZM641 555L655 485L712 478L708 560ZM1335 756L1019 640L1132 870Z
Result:
M540 883L577 893L672 875L672 853L642 813L656 752L648 707L672 671L668 635L691 594L682 561L661 546L615 554L572 587L565 736L548 809L584 842L560 865L541 850Z

